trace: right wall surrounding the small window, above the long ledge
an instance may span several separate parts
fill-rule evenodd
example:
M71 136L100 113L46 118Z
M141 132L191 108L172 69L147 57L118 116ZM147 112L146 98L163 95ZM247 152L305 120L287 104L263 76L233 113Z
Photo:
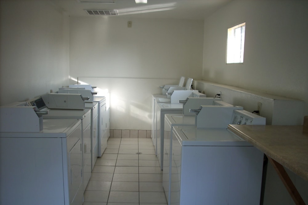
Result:
M235 0L205 20L203 80L303 100L308 2ZM244 64L226 65L227 29L246 22Z

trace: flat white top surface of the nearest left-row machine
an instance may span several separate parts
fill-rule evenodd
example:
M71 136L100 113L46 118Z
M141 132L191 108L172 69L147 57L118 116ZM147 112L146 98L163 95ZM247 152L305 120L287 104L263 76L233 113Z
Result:
M44 119L43 130L41 132L0 132L0 137L66 138L80 124L81 120Z

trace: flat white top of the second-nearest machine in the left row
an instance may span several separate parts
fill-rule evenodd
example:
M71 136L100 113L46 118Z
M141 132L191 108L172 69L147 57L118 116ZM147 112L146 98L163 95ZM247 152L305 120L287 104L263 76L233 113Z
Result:
M84 109L84 110L49 109L48 114L43 115L43 119L79 119L79 120L82 120L88 114L91 114L91 109Z

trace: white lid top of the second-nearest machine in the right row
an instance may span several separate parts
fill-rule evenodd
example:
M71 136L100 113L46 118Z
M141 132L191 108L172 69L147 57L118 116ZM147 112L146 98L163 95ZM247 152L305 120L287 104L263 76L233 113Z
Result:
M173 126L191 125L195 126L195 115L183 115L183 114L165 114L165 119L168 124Z

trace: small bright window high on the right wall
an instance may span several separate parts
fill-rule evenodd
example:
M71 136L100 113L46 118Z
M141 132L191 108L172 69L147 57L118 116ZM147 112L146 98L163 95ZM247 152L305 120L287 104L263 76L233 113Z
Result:
M227 63L244 62L245 23L228 29Z

